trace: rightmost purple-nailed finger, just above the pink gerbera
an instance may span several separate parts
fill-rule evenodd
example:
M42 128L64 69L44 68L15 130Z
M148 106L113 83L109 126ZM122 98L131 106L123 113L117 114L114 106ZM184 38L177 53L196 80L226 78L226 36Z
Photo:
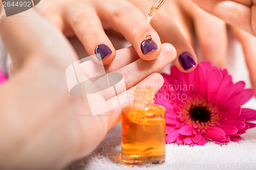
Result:
M144 13L151 8L154 1L136 1L131 0ZM181 11L177 10L175 1L168 1L166 3L166 10L157 13L151 20L151 25L159 34L163 43L168 42L174 45L177 51L177 58L174 63L183 72L189 72L195 69L197 57L189 32L184 29L187 25L183 22L184 18Z

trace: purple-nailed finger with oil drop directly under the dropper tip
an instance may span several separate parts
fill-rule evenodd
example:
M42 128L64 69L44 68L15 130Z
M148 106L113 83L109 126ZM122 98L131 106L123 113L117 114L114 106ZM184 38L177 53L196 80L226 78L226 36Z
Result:
M102 5L105 1L95 1L100 18L118 30L131 42L143 60L154 60L161 53L161 41L157 32L147 23L145 15L126 1L115 0ZM147 34L152 40L145 40Z

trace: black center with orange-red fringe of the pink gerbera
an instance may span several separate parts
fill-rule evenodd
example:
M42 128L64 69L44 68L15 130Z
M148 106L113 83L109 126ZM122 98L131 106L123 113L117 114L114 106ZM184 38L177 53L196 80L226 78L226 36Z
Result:
M218 103L208 102L202 96L190 96L177 106L178 118L183 125L191 125L204 133L207 127L217 126L223 114Z

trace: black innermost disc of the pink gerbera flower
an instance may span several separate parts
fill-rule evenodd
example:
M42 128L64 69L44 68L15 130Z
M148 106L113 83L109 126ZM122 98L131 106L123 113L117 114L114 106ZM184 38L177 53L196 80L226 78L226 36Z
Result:
M210 112L206 107L192 107L190 108L189 113L194 121L207 122L210 120Z

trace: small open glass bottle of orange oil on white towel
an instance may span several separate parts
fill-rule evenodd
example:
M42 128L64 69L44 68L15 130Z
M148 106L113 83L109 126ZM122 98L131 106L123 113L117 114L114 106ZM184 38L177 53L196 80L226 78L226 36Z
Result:
M165 108L154 104L152 87L135 90L132 106L122 110L122 161L131 164L165 160Z

